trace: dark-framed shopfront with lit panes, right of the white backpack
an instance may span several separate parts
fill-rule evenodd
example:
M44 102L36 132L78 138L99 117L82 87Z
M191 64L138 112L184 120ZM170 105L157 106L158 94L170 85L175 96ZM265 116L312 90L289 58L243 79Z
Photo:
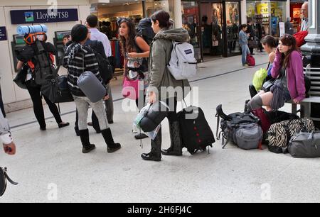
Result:
M239 2L205 1L201 2L200 11L203 55L239 55Z

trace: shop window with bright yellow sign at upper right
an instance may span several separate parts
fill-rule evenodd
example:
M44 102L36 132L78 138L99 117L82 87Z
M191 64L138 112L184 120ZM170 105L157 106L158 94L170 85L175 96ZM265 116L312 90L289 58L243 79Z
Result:
M261 30L256 29L257 33L279 37L279 22L286 21L285 11L286 1L247 1L247 18L251 18L255 26L257 23L261 26Z

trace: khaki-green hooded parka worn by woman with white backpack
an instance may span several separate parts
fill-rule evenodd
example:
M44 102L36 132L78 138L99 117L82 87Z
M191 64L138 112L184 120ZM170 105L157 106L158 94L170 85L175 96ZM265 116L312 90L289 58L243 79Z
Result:
M161 87L184 87L183 97L175 94L178 101L181 101L189 93L191 88L188 80L174 79L166 67L171 58L172 41L185 43L188 42L189 38L188 31L183 28L162 29L156 34L151 43L149 56L149 89L146 94L146 101L149 101L149 90L154 88L159 91L160 96L158 99L169 98L168 94L161 98Z

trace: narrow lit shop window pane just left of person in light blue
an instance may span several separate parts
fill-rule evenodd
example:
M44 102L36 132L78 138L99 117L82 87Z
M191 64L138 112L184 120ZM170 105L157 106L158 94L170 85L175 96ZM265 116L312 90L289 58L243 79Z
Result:
M239 3L226 2L228 53L240 52L239 38Z

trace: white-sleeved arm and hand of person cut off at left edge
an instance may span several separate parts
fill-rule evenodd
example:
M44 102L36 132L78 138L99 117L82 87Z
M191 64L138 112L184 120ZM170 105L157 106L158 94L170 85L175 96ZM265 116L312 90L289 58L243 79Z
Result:
M16 144L14 144L14 140L12 139L9 123L4 118L0 110L0 139L2 144L4 145L4 152L8 155L16 154Z

